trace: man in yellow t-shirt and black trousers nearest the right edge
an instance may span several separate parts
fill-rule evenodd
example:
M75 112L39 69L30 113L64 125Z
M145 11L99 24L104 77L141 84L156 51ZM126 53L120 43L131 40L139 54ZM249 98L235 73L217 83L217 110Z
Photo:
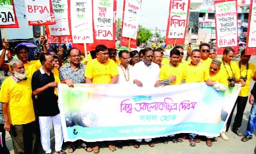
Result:
M232 109L232 111L234 111L234 109L237 106L237 113L232 126L232 131L235 134L237 134L237 136L243 136L243 134L240 132L239 127L241 127L242 125L244 109L248 101L248 95L250 90L250 79L252 78L253 80L256 80L256 75L254 76L255 65L249 62L250 57L251 55L246 55L245 50L242 50L241 60L236 61L236 64L239 66L240 80L244 80L246 82L246 85L241 88L241 91L236 100L236 104Z

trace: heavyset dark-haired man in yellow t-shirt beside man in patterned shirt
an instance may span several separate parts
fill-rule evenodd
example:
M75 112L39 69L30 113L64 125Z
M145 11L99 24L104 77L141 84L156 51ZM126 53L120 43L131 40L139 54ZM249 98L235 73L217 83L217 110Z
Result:
M118 82L118 69L116 63L109 59L108 48L105 45L98 45L95 48L96 59L88 62L84 71L86 83L115 84ZM125 57L127 58L127 57ZM114 143L109 142L110 151L116 151ZM99 153L99 144L93 147L93 153Z

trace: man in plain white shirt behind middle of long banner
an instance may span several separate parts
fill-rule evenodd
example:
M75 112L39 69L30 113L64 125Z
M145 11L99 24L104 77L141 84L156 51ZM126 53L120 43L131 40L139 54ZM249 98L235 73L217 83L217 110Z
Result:
M152 62L154 57L151 48L143 50L143 60L134 65L134 80L133 83L138 87L152 88L159 87L161 80L159 80L160 68L157 64ZM136 139L133 146L134 148L140 147L142 139ZM148 146L153 147L155 144L152 139L145 139Z

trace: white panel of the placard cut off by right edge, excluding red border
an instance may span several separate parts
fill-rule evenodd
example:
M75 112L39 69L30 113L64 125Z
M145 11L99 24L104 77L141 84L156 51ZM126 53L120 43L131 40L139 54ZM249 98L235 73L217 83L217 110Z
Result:
M248 47L256 47L256 1L252 1L252 14L250 20L250 32Z

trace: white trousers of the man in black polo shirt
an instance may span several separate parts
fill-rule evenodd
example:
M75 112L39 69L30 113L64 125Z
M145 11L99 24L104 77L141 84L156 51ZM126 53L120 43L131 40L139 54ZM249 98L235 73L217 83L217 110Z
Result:
M63 143L60 114L56 116L39 116L41 143L45 153L51 153L50 127L53 124L55 136L55 150L60 151Z

